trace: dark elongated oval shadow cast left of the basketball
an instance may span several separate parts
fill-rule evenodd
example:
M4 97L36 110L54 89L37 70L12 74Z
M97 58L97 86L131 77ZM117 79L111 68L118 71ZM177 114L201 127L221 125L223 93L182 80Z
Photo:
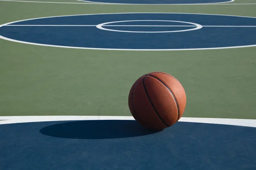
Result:
M85 120L44 127L47 136L69 139L114 139L144 136L161 130L149 130L134 120Z

